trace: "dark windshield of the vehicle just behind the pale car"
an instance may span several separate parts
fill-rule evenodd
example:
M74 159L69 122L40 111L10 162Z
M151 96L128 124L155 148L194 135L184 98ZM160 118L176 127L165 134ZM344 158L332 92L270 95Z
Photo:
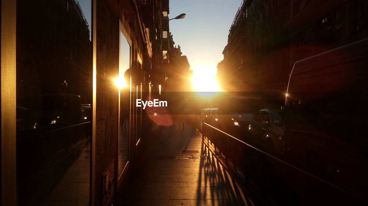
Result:
M265 105L261 99L234 99L229 108L231 113L255 113Z

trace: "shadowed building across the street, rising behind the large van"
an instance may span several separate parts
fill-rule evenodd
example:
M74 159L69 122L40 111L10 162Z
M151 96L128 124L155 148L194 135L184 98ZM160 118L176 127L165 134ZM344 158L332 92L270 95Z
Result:
M217 66L222 89L268 92L278 107L296 61L368 37L366 8L361 0L244 0Z

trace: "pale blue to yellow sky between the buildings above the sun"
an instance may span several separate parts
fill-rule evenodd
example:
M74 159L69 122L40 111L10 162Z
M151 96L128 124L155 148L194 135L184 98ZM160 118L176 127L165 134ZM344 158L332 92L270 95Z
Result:
M235 14L243 0L170 0L169 18L175 45L180 45L194 73L214 75Z

